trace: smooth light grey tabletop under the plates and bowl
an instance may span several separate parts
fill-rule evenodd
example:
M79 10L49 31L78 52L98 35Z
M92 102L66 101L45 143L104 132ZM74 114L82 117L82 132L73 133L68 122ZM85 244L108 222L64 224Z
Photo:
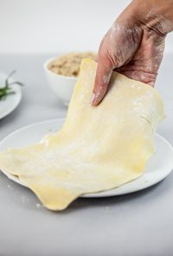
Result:
M48 89L47 56L0 56L0 70L25 83L22 102L0 121L0 140L16 128L65 116ZM167 119L158 128L173 144L173 55L165 55L157 79ZM173 255L173 174L144 191L105 199L78 199L50 212L29 189L0 174L0 256Z

